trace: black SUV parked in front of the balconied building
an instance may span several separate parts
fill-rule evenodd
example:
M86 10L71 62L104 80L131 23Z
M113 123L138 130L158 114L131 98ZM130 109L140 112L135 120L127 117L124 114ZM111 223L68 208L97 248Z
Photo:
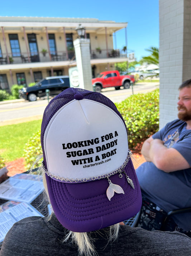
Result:
M34 86L23 87L19 90L19 96L25 100L35 101L37 97L46 96L46 89L49 90L49 95L58 95L69 87L69 76L49 76Z

